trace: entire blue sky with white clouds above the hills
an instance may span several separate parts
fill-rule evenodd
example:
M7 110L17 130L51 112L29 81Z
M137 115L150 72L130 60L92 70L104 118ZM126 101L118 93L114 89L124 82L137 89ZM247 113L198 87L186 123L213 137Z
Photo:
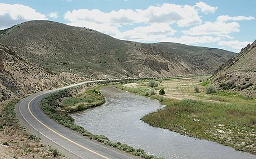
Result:
M255 8L256 0L0 0L0 29L52 20L122 40L239 53L256 39Z

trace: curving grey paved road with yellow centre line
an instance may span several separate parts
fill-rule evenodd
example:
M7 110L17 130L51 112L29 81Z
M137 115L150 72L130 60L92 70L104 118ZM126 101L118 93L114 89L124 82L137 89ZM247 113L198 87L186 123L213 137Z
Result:
M19 102L17 107L18 115L22 116L25 124L27 123L29 127L32 127L31 131L33 131L33 134L36 134L36 132L39 131L41 137L45 137L48 141L55 143L57 147L62 147L64 153L71 156L71 158L132 158L125 153L121 153L118 150L114 150L113 148L88 140L85 137L76 134L76 132L51 120L40 110L40 101L48 94L90 82L93 81L83 82L28 96Z

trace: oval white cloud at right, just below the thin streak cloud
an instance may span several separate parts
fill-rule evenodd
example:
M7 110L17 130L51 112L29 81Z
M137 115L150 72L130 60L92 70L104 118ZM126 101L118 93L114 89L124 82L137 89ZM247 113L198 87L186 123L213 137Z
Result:
M189 30L184 30L183 33L188 35L228 35L239 32L239 27L237 22L206 22Z

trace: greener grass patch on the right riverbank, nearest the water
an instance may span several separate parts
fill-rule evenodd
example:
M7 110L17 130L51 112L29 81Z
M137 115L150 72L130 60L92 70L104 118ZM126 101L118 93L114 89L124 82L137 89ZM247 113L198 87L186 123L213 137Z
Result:
M253 140L256 135L255 103L164 99L163 104L166 105L164 109L142 120L152 126L256 154L256 140Z

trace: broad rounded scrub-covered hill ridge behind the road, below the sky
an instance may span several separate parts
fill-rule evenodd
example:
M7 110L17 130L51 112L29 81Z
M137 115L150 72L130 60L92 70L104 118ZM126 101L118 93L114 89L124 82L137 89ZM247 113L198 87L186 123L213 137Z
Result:
M33 64L80 79L209 73L235 56L220 49L127 42L92 29L41 20L1 30L0 43Z

